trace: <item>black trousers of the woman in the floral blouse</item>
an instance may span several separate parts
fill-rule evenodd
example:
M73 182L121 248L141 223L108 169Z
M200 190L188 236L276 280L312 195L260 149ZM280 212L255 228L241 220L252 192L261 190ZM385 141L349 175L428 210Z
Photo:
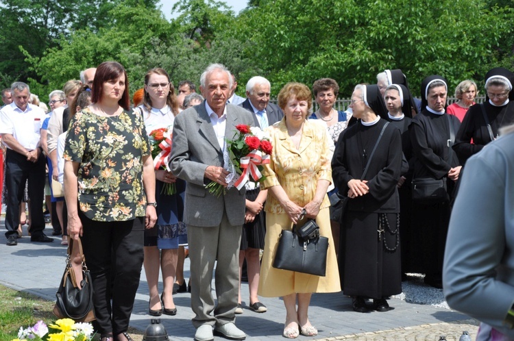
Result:
M143 266L145 218L101 222L79 217L82 247L93 279L95 328L105 336L127 331ZM112 303L111 303L112 299Z

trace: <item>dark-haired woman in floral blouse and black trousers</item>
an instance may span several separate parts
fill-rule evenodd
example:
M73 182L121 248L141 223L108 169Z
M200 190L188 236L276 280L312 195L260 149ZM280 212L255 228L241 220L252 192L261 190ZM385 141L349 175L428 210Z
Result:
M157 220L154 164L143 117L127 111L121 64L98 66L91 100L73 116L64 150L68 231L82 238L101 341L132 340L143 231Z

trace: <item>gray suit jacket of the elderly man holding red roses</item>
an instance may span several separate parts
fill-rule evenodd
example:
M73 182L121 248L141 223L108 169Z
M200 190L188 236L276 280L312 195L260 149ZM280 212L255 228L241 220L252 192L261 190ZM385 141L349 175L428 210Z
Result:
M187 182L184 223L199 227L219 226L223 212L230 225L243 225L245 220L245 189L230 188L216 197L208 192L211 181L204 177L207 166L223 167L223 151L210 117L206 102L188 108L175 117L170 167L173 174ZM236 125L254 125L252 116L236 105L227 105L225 138L232 139Z

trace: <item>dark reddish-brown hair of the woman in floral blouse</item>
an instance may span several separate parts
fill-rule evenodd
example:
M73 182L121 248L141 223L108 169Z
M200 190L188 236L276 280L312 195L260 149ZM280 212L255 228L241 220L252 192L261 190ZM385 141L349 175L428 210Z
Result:
M95 79L93 80L93 95L91 96L92 103L99 103L101 101L103 83L112 79L117 79L120 75L125 75L125 91L123 96L118 101L118 104L125 110L130 109L130 95L128 90L128 77L127 71L123 68L123 65L119 62L103 62L95 73Z

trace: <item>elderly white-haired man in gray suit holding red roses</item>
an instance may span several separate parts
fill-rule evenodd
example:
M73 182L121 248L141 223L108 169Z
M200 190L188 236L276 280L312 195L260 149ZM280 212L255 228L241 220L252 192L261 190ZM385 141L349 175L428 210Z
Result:
M232 77L225 66L208 66L200 83L206 100L175 117L170 162L173 174L187 181L184 222L188 227L195 340L213 340L213 326L215 333L225 338L244 340L245 333L234 325L234 312L245 189L232 187L217 197L206 186L212 181L228 185L229 173L223 168L225 138L234 136L236 125L254 125L254 121L247 110L226 104ZM211 294L215 261L217 305Z

